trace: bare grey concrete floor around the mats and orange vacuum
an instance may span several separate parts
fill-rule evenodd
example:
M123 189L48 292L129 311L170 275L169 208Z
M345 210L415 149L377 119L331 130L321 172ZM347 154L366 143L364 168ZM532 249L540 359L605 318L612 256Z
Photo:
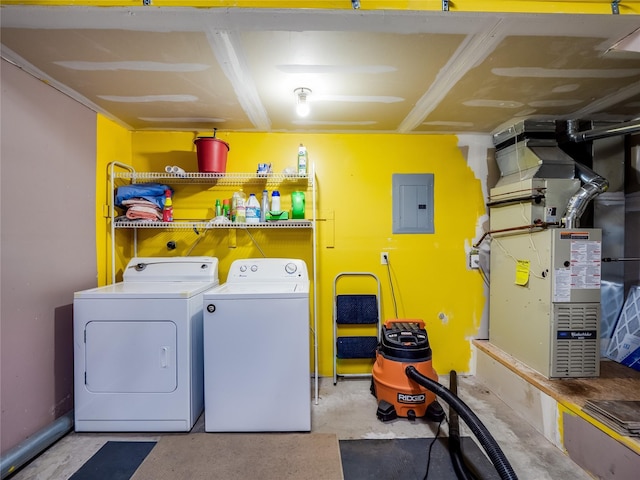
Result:
M441 377L448 385L448 377ZM335 433L339 439L433 437L437 425L418 419L383 423L376 417L377 402L370 394L370 379L320 380L318 405L312 405L312 432ZM517 412L484 387L476 377L458 376L458 396L480 418L500 445L521 480L589 480L592 477L568 456L530 427ZM440 402L448 413L447 405ZM461 424L461 435L473 437ZM193 432L204 431L201 416ZM441 435L446 436L446 423ZM108 440L158 440L157 434L69 433L31 463L10 477L12 480L64 480L77 471ZM310 479L312 480L312 479ZM380 479L385 480L385 479Z

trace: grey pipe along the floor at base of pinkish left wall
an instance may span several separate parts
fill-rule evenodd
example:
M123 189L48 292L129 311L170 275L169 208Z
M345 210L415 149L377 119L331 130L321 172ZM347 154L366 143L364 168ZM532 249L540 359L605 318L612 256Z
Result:
M1 478L6 478L73 429L73 410L27 437L0 459Z

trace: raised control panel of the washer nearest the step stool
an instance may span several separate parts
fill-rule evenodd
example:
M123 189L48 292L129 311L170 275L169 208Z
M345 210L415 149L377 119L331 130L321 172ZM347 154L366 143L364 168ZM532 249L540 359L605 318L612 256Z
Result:
M227 282L308 280L304 260L289 258L250 258L231 264Z

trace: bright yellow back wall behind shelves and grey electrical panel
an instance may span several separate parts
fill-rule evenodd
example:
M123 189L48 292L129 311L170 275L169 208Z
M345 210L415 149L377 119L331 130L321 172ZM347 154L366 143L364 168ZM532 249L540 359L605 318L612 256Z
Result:
M99 130L100 138L113 134L118 144L123 138L111 124L101 122ZM138 171L163 171L166 165L197 171L195 137L185 132L133 132L131 163ZM465 245L472 243L485 208L480 181L456 146L457 137L224 132L218 138L231 147L228 172L254 172L259 162L270 162L274 171L280 172L295 165L299 143L307 146L309 161L315 165L316 214L320 219L317 286L321 375L332 375L333 282L345 271L367 271L378 276L383 319L396 318L397 308L398 318L426 322L434 366L441 373L470 370L469 337L477 332L485 299L480 276L467 268ZM392 234L393 173L434 174L435 234ZM178 220L210 218L215 199L230 196L233 191L211 185L172 186ZM259 196L261 192L255 193ZM283 204L287 201L283 197ZM310 193L307 201L310 216ZM312 267L310 230L254 229L251 233L253 239L243 230L209 230L199 235L193 231L141 230L138 255L213 255L220 260L221 281L226 280L234 259L262 256L255 243L266 256L303 258ZM176 241L175 250L167 249L169 240ZM126 233L118 233L119 243L129 241ZM126 245L120 245L119 251L126 251ZM382 251L390 254L390 271L380 265ZM345 283L342 288L347 289L343 293L367 293L371 285Z

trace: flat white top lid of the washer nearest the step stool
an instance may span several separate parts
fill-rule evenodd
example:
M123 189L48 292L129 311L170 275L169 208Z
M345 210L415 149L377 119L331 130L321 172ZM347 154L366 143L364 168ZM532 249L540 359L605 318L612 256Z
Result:
M309 282L225 283L204 293L204 298L298 298L309 296Z

